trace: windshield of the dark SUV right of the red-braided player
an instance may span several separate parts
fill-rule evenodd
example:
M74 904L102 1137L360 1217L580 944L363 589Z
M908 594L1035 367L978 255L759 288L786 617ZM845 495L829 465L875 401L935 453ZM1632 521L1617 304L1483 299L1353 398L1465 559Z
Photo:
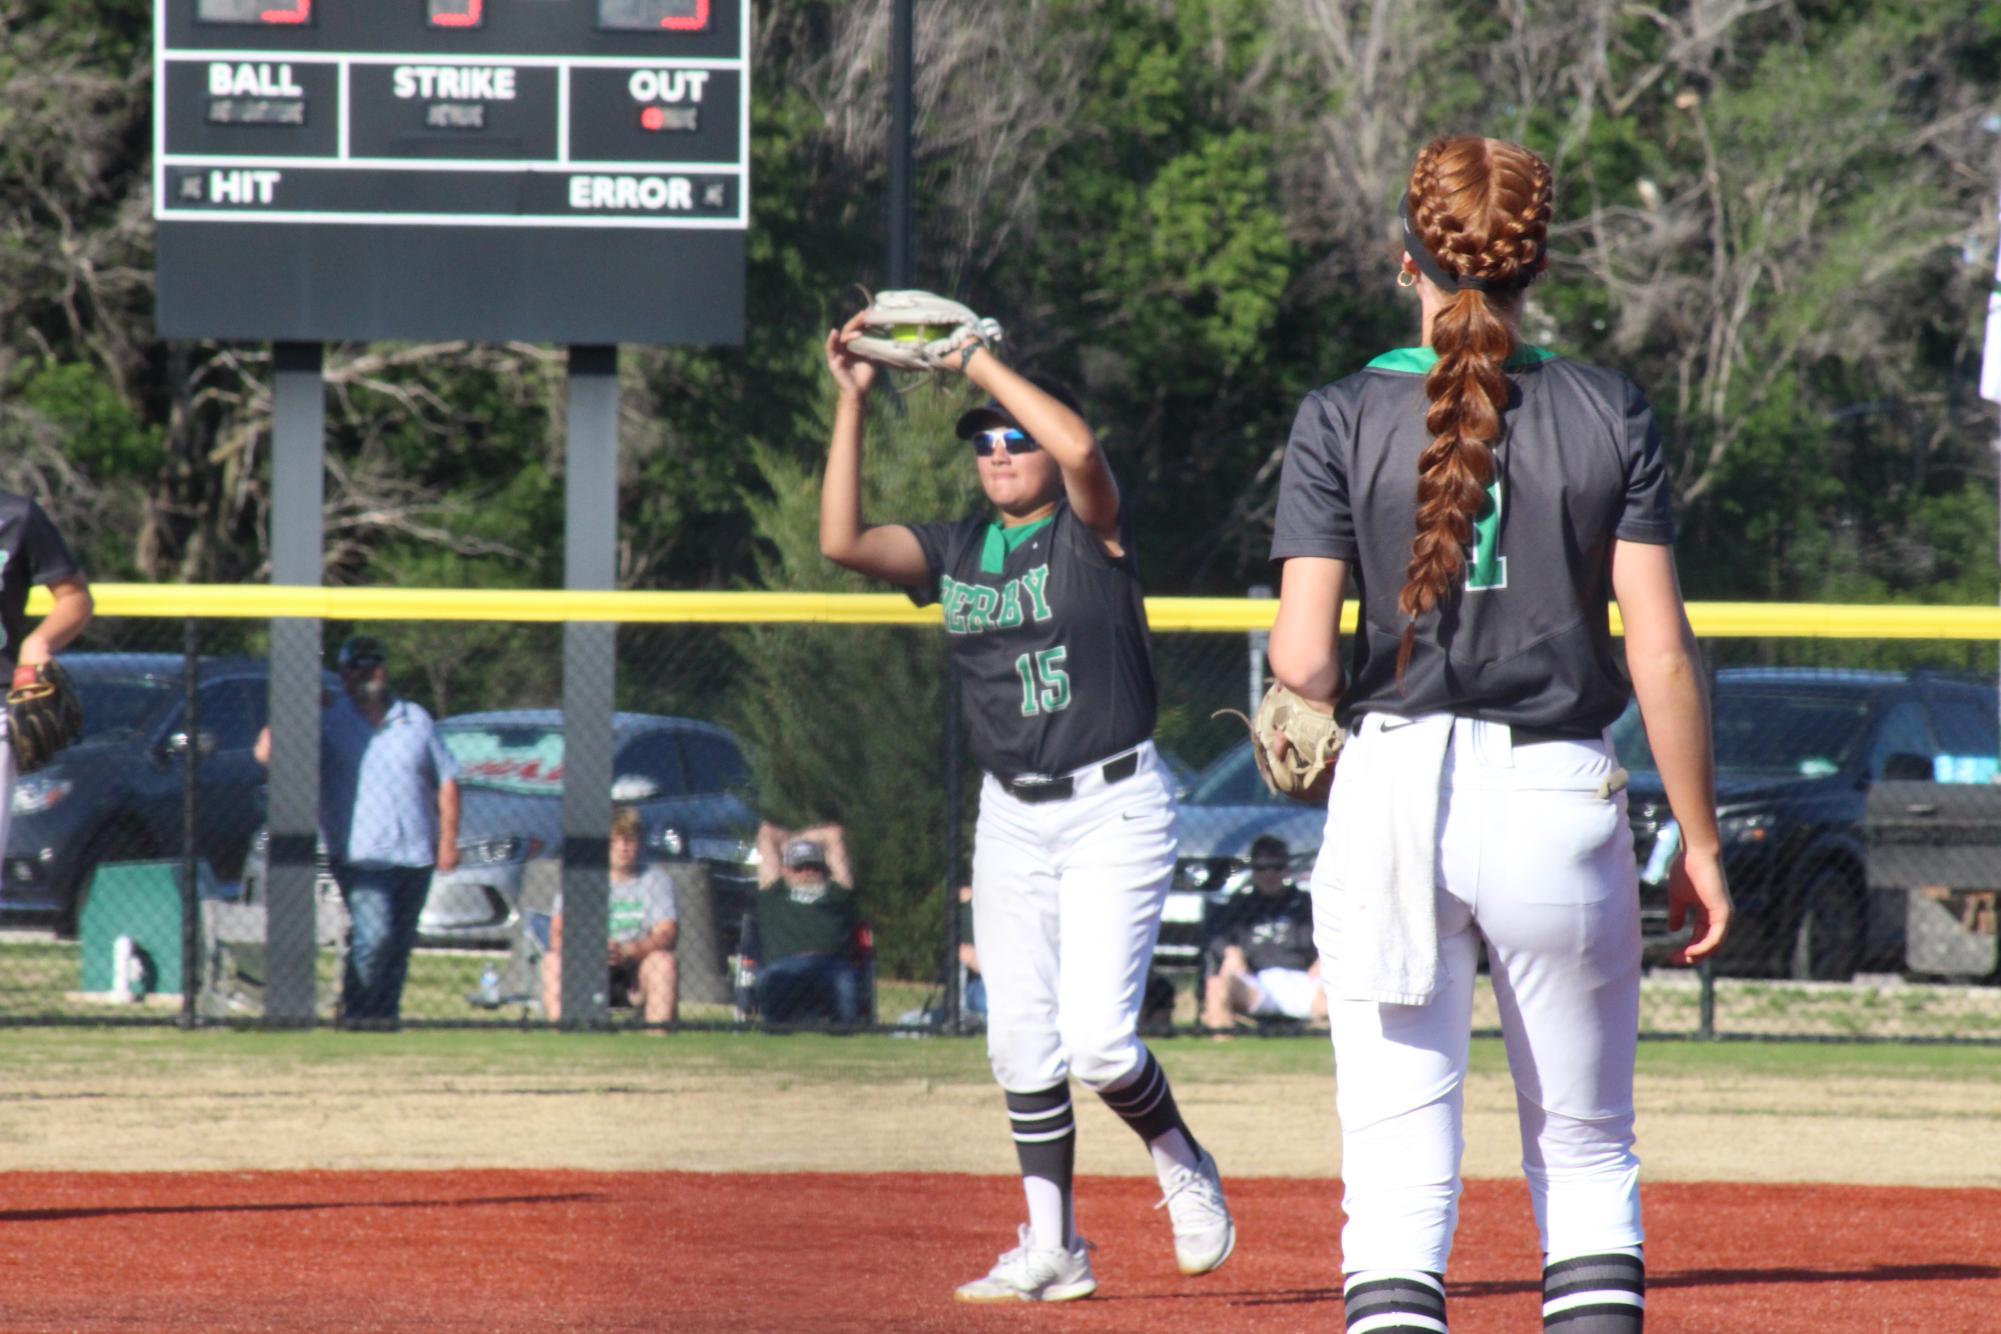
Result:
M1719 682L1711 700L1721 772L1825 778L1855 754L1869 724L1869 696L1859 690L1775 690ZM1613 724L1613 746L1627 768L1655 768L1639 708Z

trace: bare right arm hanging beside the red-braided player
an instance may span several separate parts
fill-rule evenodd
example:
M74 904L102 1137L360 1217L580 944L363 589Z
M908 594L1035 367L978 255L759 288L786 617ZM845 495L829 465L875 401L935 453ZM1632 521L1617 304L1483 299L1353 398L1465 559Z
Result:
M1703 662L1681 602L1673 548L1613 542L1613 596L1625 622L1627 670L1647 744L1681 824L1683 856L1669 878L1669 926L1679 930L1693 912L1695 936L1671 958L1693 964L1723 944L1731 890L1717 834L1717 766Z

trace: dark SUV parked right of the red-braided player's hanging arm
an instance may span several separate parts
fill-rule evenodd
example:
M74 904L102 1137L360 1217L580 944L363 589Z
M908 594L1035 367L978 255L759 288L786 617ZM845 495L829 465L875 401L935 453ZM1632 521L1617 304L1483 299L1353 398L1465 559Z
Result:
M1725 972L1847 978L1901 964L1903 896L1969 884L2001 858L1991 680L1933 672L1725 668L1711 690L1717 814L1737 906ZM1651 956L1669 948L1679 828L1629 708L1633 842ZM1985 868L1985 870L1983 870Z

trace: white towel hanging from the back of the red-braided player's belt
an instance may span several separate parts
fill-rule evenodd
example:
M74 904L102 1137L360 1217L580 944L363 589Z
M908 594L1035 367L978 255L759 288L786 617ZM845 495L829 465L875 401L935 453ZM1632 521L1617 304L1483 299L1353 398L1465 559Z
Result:
M1427 1004L1439 988L1439 780L1451 714L1363 720L1335 800L1341 812L1341 958L1335 994L1391 1006ZM1361 754L1353 754L1361 752Z

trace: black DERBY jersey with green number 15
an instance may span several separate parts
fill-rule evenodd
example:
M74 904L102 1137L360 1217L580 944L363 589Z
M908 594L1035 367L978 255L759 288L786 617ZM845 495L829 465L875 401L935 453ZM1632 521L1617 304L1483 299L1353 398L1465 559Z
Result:
M1127 516L1125 556L1069 500L1039 524L976 514L910 532L926 576L908 594L944 608L980 768L1063 774L1153 736L1153 646Z

